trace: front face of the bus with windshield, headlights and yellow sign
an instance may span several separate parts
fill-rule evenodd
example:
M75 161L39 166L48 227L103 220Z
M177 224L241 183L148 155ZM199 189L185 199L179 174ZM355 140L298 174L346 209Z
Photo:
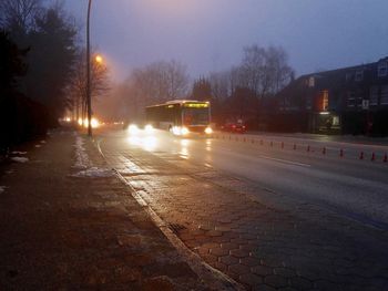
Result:
M210 135L211 104L210 102L185 102L182 104L182 134L198 133Z

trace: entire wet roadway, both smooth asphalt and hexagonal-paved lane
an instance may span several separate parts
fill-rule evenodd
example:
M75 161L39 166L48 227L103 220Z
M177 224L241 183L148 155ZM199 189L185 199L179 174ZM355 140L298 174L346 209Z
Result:
M116 131L101 133L99 147L188 248L248 289L341 290L353 264L355 288L388 288L386 145Z

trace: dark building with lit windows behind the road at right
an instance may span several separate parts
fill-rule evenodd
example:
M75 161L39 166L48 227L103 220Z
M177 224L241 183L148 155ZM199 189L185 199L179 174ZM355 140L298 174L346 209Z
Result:
M272 129L388 135L388 58L306 74L276 97Z

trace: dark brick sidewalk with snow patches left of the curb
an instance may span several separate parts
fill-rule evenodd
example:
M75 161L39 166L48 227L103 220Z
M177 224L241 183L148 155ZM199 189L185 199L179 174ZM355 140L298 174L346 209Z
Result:
M227 288L193 271L88 138L27 152L0 167L0 290Z

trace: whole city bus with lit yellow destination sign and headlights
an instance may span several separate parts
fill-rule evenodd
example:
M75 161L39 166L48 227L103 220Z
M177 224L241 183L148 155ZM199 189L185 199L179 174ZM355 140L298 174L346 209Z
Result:
M210 135L211 103L194 100L174 100L145 108L147 124L174 135L201 133Z

